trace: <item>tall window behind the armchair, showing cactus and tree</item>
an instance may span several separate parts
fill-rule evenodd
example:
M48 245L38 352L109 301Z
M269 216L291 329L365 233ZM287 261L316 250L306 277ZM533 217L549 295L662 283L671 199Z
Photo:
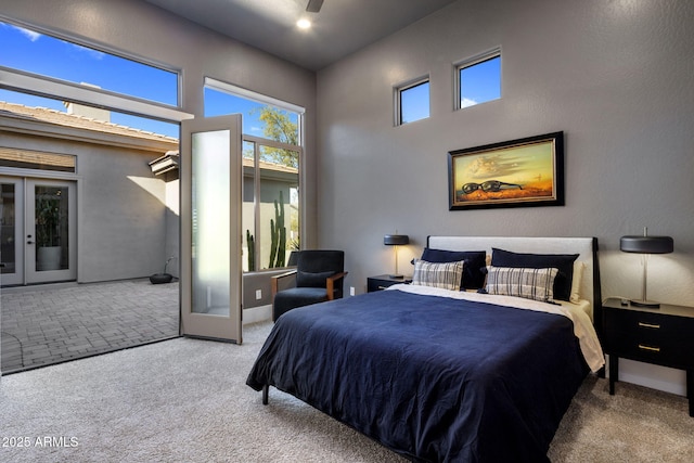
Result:
M304 110L213 79L205 116L240 113L243 119L243 269L288 265L300 247L299 171Z

